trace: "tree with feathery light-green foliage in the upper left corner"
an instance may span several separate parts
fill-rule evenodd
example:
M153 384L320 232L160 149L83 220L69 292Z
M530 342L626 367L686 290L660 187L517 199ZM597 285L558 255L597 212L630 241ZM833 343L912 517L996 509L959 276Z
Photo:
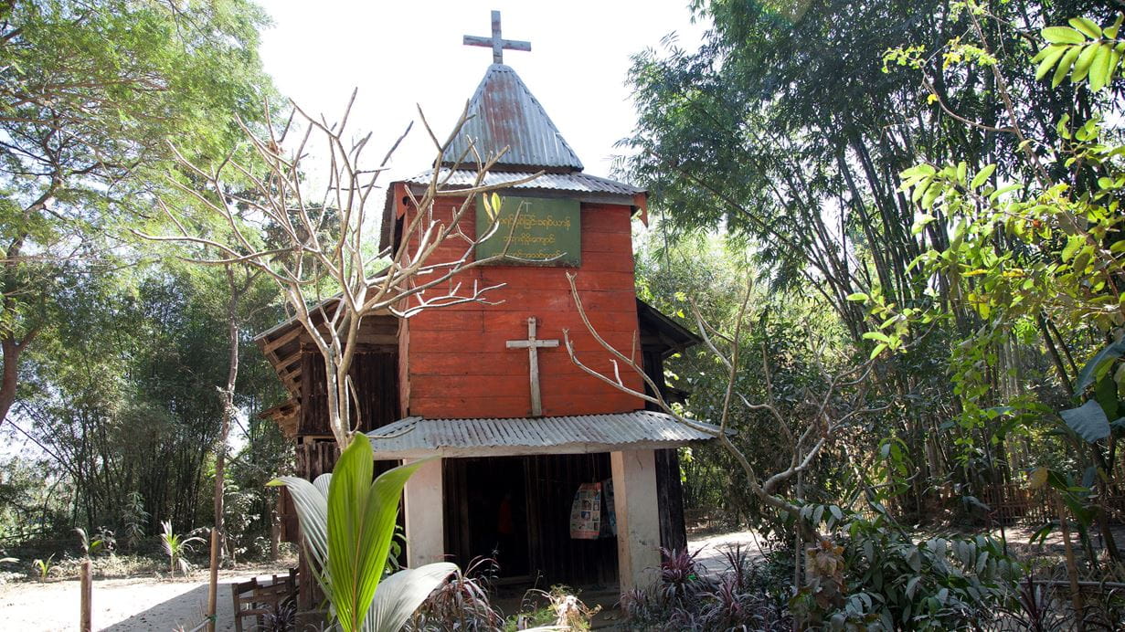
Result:
M272 97L246 0L0 2L0 422L19 361L65 315L60 270L106 274L150 214L170 138L225 153Z

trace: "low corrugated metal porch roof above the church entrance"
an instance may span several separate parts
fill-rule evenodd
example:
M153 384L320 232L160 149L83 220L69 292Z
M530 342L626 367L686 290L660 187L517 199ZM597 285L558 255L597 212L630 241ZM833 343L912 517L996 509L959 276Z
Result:
M693 423L710 433L684 425L665 413L633 410L514 419L406 417L372 431L368 436L371 437L376 459L417 459L433 455L583 454L674 448L713 439L719 432L711 424Z

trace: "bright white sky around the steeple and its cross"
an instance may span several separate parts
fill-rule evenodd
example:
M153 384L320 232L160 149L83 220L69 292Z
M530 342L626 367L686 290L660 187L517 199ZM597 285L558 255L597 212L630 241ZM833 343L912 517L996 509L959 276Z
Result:
M464 35L490 36L490 11L503 37L531 42L531 52L505 51L562 133L585 171L610 175L613 144L636 123L626 74L630 56L660 47L675 33L694 49L703 26L691 22L687 0L568 2L266 0L273 27L262 57L281 93L309 112L338 120L353 88L353 133L372 133L368 160L386 150L421 106L444 139L492 63L489 48L465 46ZM396 152L392 178L413 175L435 151L421 126Z

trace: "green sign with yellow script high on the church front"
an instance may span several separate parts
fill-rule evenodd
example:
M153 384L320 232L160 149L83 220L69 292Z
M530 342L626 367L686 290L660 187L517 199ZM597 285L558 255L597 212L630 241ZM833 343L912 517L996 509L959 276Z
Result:
M477 244L478 260L504 254L501 263L505 265L582 265L578 200L518 197L500 200L501 207L495 209L490 204L485 205L484 196L477 196L477 235L493 231Z

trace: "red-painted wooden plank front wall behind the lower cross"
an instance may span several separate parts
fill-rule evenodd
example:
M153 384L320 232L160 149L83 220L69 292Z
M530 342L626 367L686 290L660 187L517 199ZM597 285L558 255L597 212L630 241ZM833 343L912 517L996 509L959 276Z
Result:
M443 198L435 214L449 217L460 199ZM610 344L628 354L638 328L630 216L622 205L582 205L582 267L542 268L488 265L459 276L462 288L505 283L490 291L500 305L466 304L430 309L407 320L399 342L405 413L430 418L523 417L531 414L528 351L507 349L505 341L526 340L529 317L539 320L537 337L559 341L539 350L543 415L588 415L644 408L644 403L588 376L564 349L568 328L578 358L612 374L610 355L583 325L570 296L567 271L577 286L587 316ZM470 214L464 229L475 234ZM465 242L450 243L434 256L452 260ZM440 294L431 290L431 294ZM639 353L639 350L638 350ZM638 363L641 361L637 358ZM641 380L622 367L632 388Z

